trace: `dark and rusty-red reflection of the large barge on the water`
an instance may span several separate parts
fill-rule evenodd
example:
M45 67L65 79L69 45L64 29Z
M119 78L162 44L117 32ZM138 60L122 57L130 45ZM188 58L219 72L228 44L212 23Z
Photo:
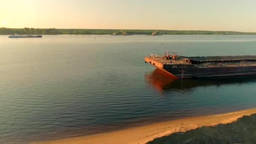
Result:
M191 91L197 87L221 86L221 85L241 85L245 83L256 83L256 77L236 77L226 78L204 78L197 79L174 79L171 75L155 69L145 75L146 82L157 91Z

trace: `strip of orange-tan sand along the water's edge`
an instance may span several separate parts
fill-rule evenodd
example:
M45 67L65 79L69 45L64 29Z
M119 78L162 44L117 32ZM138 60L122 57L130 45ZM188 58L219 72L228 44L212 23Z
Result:
M170 120L109 133L59 139L55 141L35 142L33 144L145 144L155 138L171 133L185 132L202 126L232 123L244 115L252 115L254 113L256 113L256 108L220 115Z

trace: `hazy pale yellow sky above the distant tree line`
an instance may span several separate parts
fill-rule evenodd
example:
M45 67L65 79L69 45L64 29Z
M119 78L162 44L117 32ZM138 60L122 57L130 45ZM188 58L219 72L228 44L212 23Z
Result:
M0 0L0 27L256 32L256 0Z

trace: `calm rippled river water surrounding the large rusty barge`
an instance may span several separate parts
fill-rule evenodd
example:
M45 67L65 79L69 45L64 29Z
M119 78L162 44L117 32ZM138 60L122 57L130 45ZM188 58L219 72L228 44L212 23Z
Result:
M96 38L96 39L95 39ZM0 144L256 107L256 78L173 80L144 56L256 55L250 35L0 36Z

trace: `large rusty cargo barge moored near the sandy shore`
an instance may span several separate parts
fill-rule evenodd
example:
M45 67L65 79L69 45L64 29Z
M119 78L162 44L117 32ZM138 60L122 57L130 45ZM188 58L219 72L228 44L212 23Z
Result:
M232 77L256 75L256 56L178 56L165 51L164 55L151 54L145 63L175 78Z

